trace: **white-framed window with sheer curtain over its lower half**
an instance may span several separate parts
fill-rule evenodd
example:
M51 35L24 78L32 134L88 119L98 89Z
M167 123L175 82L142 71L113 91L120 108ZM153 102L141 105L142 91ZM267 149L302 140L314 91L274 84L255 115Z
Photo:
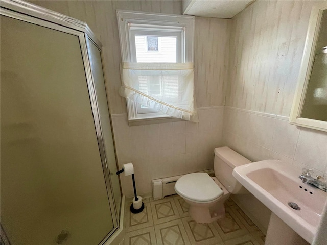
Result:
M196 120L194 17L117 13L123 60L120 94L127 98L129 121L171 116Z

